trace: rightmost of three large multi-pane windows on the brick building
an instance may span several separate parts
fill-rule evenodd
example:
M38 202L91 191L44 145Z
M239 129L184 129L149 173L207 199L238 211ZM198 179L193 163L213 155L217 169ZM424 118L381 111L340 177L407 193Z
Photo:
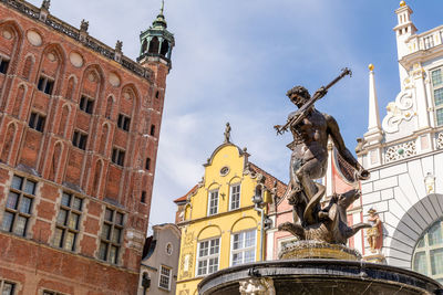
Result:
M122 246L124 214L106 208L99 249L99 257L113 264L119 263Z

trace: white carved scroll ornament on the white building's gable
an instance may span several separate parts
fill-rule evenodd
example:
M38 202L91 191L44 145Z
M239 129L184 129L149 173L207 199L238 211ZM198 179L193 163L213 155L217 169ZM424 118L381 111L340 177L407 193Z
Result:
M395 102L391 102L387 106L388 114L382 123L383 130L390 134L399 131L399 125L402 120L410 120L416 115L413 105L411 89L399 93Z

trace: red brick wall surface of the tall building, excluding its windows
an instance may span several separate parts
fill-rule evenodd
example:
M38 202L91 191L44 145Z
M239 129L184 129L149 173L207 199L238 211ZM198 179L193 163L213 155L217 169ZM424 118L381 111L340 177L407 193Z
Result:
M40 45L30 32L41 36ZM16 282L18 294L135 294L168 67L150 63L152 78L138 76L3 3L0 55L10 60L7 75L0 73L0 228L13 175L38 182L25 236L0 231L0 278ZM38 89L42 75L54 81L52 95ZM94 101L93 114L80 109L82 95ZM28 126L31 113L45 116L42 133ZM117 127L119 114L131 118L130 131ZM75 130L87 134L86 150L72 145ZM125 151L123 167L112 162L113 147ZM84 203L73 252L54 245L63 191ZM117 265L97 259L106 207L125 214Z

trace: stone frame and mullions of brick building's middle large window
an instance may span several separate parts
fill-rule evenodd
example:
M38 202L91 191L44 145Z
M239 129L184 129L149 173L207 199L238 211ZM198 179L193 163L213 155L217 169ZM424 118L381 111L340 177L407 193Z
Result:
M65 197L68 197L68 202L64 201ZM80 201L80 204L75 204L75 201ZM79 235L81 232L81 222L82 214L84 208L84 198L81 198L74 193L63 191L60 206L59 213L55 219L55 229L53 234L53 245L66 251L74 252L76 250ZM61 212L65 212L64 220L60 220L62 218ZM71 219L71 217L78 217L75 219ZM71 224L71 222L75 222L75 224ZM60 241L58 242L58 233L56 231L61 231ZM72 241L70 242L71 247L68 247L68 236L72 236Z

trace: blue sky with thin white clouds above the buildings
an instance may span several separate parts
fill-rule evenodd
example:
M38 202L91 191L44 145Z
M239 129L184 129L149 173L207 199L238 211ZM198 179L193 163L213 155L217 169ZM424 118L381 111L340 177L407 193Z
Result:
M31 3L40 7L41 1ZM250 161L288 180L290 135L276 136L293 106L287 89L311 92L340 69L352 69L317 104L333 115L350 150L368 125L368 64L375 66L381 118L400 89L396 63L398 0L166 0L175 34L167 78L150 224L173 222L174 199L203 176L202 164L223 143L226 122L234 144L247 147ZM443 24L442 0L410 0L420 32ZM105 44L123 41L135 59L138 34L151 25L161 0L52 0L51 13Z

